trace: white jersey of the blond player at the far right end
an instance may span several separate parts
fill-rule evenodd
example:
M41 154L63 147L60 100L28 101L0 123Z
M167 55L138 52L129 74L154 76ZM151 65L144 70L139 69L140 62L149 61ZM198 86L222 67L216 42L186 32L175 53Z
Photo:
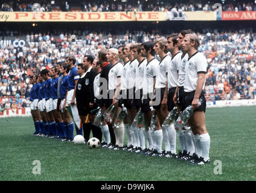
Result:
M206 74L207 60L206 57L201 52L196 52L191 57L185 66L185 81L184 81L184 91L192 92L196 90L198 74ZM203 83L203 89L205 87L205 82Z

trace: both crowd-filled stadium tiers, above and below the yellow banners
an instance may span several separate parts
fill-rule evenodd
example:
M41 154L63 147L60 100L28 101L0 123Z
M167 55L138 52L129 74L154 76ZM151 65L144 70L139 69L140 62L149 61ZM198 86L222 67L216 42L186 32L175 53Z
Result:
M40 11L182 11L214 10L208 1L37 1ZM67 2L67 3L66 3ZM253 11L252 1L216 1L223 11ZM132 6L133 5L133 6ZM32 1L1 1L0 11L32 11ZM179 22L179 23L178 23ZM85 54L95 55L101 48L118 47L129 42L154 41L178 32L181 26L197 31L199 51L208 59L206 99L237 100L256 98L256 36L251 21L222 22L115 22L97 24L21 24L5 23L0 29L0 102L29 106L28 75L50 67L66 55L74 54L77 63ZM100 25L98 25L100 24ZM116 25L118 25L118 30ZM132 27L131 27L132 25ZM168 28L166 28L168 25ZM142 26L142 28L141 28ZM232 31L230 30L232 28ZM245 30L247 29L247 30ZM11 43L24 40L17 48ZM47 68L48 68L47 67ZM19 95L18 97L16 95ZM18 102L17 102L18 101Z

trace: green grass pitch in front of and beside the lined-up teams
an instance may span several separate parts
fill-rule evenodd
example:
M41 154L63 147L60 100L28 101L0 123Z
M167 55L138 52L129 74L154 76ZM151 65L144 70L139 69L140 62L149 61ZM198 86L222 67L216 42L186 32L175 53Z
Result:
M126 151L91 150L87 145L33 136L31 117L1 118L0 180L254 181L255 109L254 106L206 109L206 127L211 137L211 163L200 166ZM33 165L34 160L40 161L40 174L33 174L34 167L38 166ZM216 171L222 171L222 174L216 174Z

